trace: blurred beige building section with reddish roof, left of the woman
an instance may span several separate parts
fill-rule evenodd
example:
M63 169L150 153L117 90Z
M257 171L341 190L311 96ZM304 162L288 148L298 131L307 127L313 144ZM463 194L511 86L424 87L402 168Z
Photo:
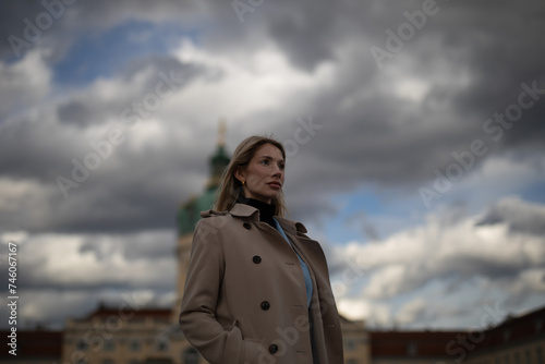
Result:
M172 323L171 310L126 304L70 319L62 363L198 363L198 356Z

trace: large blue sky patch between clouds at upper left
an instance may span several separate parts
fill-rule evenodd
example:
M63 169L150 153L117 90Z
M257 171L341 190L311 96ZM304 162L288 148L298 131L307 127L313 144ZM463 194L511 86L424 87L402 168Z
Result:
M198 29L175 23L160 25L128 21L100 33L80 36L68 54L53 66L57 84L85 85L99 77L111 77L135 59L168 54L180 39L198 44Z

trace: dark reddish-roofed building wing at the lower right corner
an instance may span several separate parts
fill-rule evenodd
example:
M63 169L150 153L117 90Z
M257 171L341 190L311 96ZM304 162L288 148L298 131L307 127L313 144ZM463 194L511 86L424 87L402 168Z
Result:
M545 307L472 331L372 331L372 364L545 364Z

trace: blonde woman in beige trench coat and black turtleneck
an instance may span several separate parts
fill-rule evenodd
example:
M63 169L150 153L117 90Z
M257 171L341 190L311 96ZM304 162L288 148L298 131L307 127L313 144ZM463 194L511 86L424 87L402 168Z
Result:
M195 228L180 325L213 364L343 363L324 252L282 217L284 161L277 141L244 139Z

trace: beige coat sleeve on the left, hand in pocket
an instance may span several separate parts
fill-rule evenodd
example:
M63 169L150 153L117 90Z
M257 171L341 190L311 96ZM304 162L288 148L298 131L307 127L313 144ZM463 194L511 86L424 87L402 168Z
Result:
M232 323L225 328L216 319L216 305L223 279L225 262L217 234L202 219L193 235L190 266L180 313L180 326L190 343L211 364L242 363L243 340L240 328Z

